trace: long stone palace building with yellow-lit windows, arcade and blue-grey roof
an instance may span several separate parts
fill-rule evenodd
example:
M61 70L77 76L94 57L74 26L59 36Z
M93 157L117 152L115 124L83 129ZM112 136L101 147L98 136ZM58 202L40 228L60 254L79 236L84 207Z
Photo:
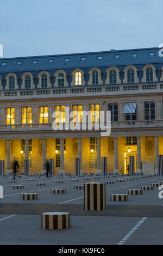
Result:
M135 172L142 163L163 155L163 57L159 48L110 50L54 56L0 59L0 160L5 172L18 160L20 172L29 159L30 174L45 171L54 159L54 173L127 173L129 156ZM52 129L53 112L61 112L55 125L82 123L83 111L92 113L92 131ZM94 129L100 111L111 112L111 134Z

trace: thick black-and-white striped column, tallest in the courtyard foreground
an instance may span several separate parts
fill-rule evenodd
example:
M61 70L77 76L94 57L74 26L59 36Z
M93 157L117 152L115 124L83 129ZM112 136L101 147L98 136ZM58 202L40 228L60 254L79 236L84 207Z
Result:
M105 183L84 184L84 210L105 210Z

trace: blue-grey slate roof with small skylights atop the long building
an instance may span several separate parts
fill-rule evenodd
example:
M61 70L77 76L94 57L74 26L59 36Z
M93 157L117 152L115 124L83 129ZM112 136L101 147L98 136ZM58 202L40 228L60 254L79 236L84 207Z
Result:
M160 48L138 48L130 50L110 50L102 52L85 52L71 54L57 54L47 56L30 56L17 58L1 58L0 59L0 74L4 72L22 72L22 71L38 71L38 70L58 70L58 69L74 69L74 68L95 68L104 66L121 66L121 65L139 65L139 64L154 64L162 63L163 58L159 57ZM155 52L154 56L149 56L149 53ZM131 54L137 53L136 57L131 57ZM115 55L120 55L120 58L115 58ZM102 59L97 59L98 56L103 56ZM85 60L81 60L86 57ZM65 62L65 58L70 58ZM53 63L48 63L49 59L53 59ZM33 60L38 60L36 64L32 64ZM2 63L7 62L6 65ZM17 65L17 62L22 62Z

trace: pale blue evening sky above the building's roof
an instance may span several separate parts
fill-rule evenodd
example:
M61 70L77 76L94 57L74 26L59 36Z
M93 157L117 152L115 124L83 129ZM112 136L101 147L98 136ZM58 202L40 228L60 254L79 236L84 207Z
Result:
M163 0L0 0L4 57L157 47Z

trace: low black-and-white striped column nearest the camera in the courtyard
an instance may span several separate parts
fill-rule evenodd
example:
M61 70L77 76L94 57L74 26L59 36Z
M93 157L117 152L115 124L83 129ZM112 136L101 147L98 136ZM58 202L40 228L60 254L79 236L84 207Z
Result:
M69 212L44 212L41 214L41 228L64 229L70 227Z

